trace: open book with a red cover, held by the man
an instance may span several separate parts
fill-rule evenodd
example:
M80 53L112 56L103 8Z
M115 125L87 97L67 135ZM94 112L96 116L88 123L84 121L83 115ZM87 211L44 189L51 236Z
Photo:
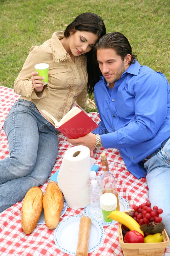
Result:
M65 114L59 122L46 110L39 112L69 139L83 137L98 127L83 110L76 106Z

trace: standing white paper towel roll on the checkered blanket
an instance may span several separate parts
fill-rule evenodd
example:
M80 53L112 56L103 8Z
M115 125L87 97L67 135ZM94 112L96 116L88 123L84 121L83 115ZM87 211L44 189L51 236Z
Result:
M69 148L58 173L58 186L71 208L84 208L89 204L88 179L90 150L86 146Z

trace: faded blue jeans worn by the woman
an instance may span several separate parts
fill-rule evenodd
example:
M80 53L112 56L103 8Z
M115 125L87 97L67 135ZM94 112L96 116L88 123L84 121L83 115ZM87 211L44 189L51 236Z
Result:
M58 154L58 131L34 103L18 100L4 122L10 157L0 161L0 212L46 182Z

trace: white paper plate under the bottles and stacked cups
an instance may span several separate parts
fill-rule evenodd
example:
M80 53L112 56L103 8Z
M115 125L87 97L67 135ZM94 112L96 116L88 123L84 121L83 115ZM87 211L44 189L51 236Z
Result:
M120 212L124 212L129 210L129 203L126 201L126 199L124 199L123 197L119 196L119 205L120 205ZM90 211L90 205L88 205L87 207L84 208L84 215L85 216L89 216L91 215L91 211ZM99 222L103 225L103 226L110 226L112 224L117 223L117 221L113 220L111 222L106 222L103 219L99 220Z

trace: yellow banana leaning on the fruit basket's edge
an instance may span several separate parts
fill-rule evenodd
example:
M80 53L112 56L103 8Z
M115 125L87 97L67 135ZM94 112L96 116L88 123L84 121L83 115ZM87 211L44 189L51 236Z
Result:
M122 224L124 224L127 228L130 230L136 230L139 233L141 233L143 236L143 231L140 230L140 225L137 223L136 220L134 220L130 215L126 214L125 212L120 211L112 211L109 216L107 216L107 219L112 218L113 220L116 220Z

